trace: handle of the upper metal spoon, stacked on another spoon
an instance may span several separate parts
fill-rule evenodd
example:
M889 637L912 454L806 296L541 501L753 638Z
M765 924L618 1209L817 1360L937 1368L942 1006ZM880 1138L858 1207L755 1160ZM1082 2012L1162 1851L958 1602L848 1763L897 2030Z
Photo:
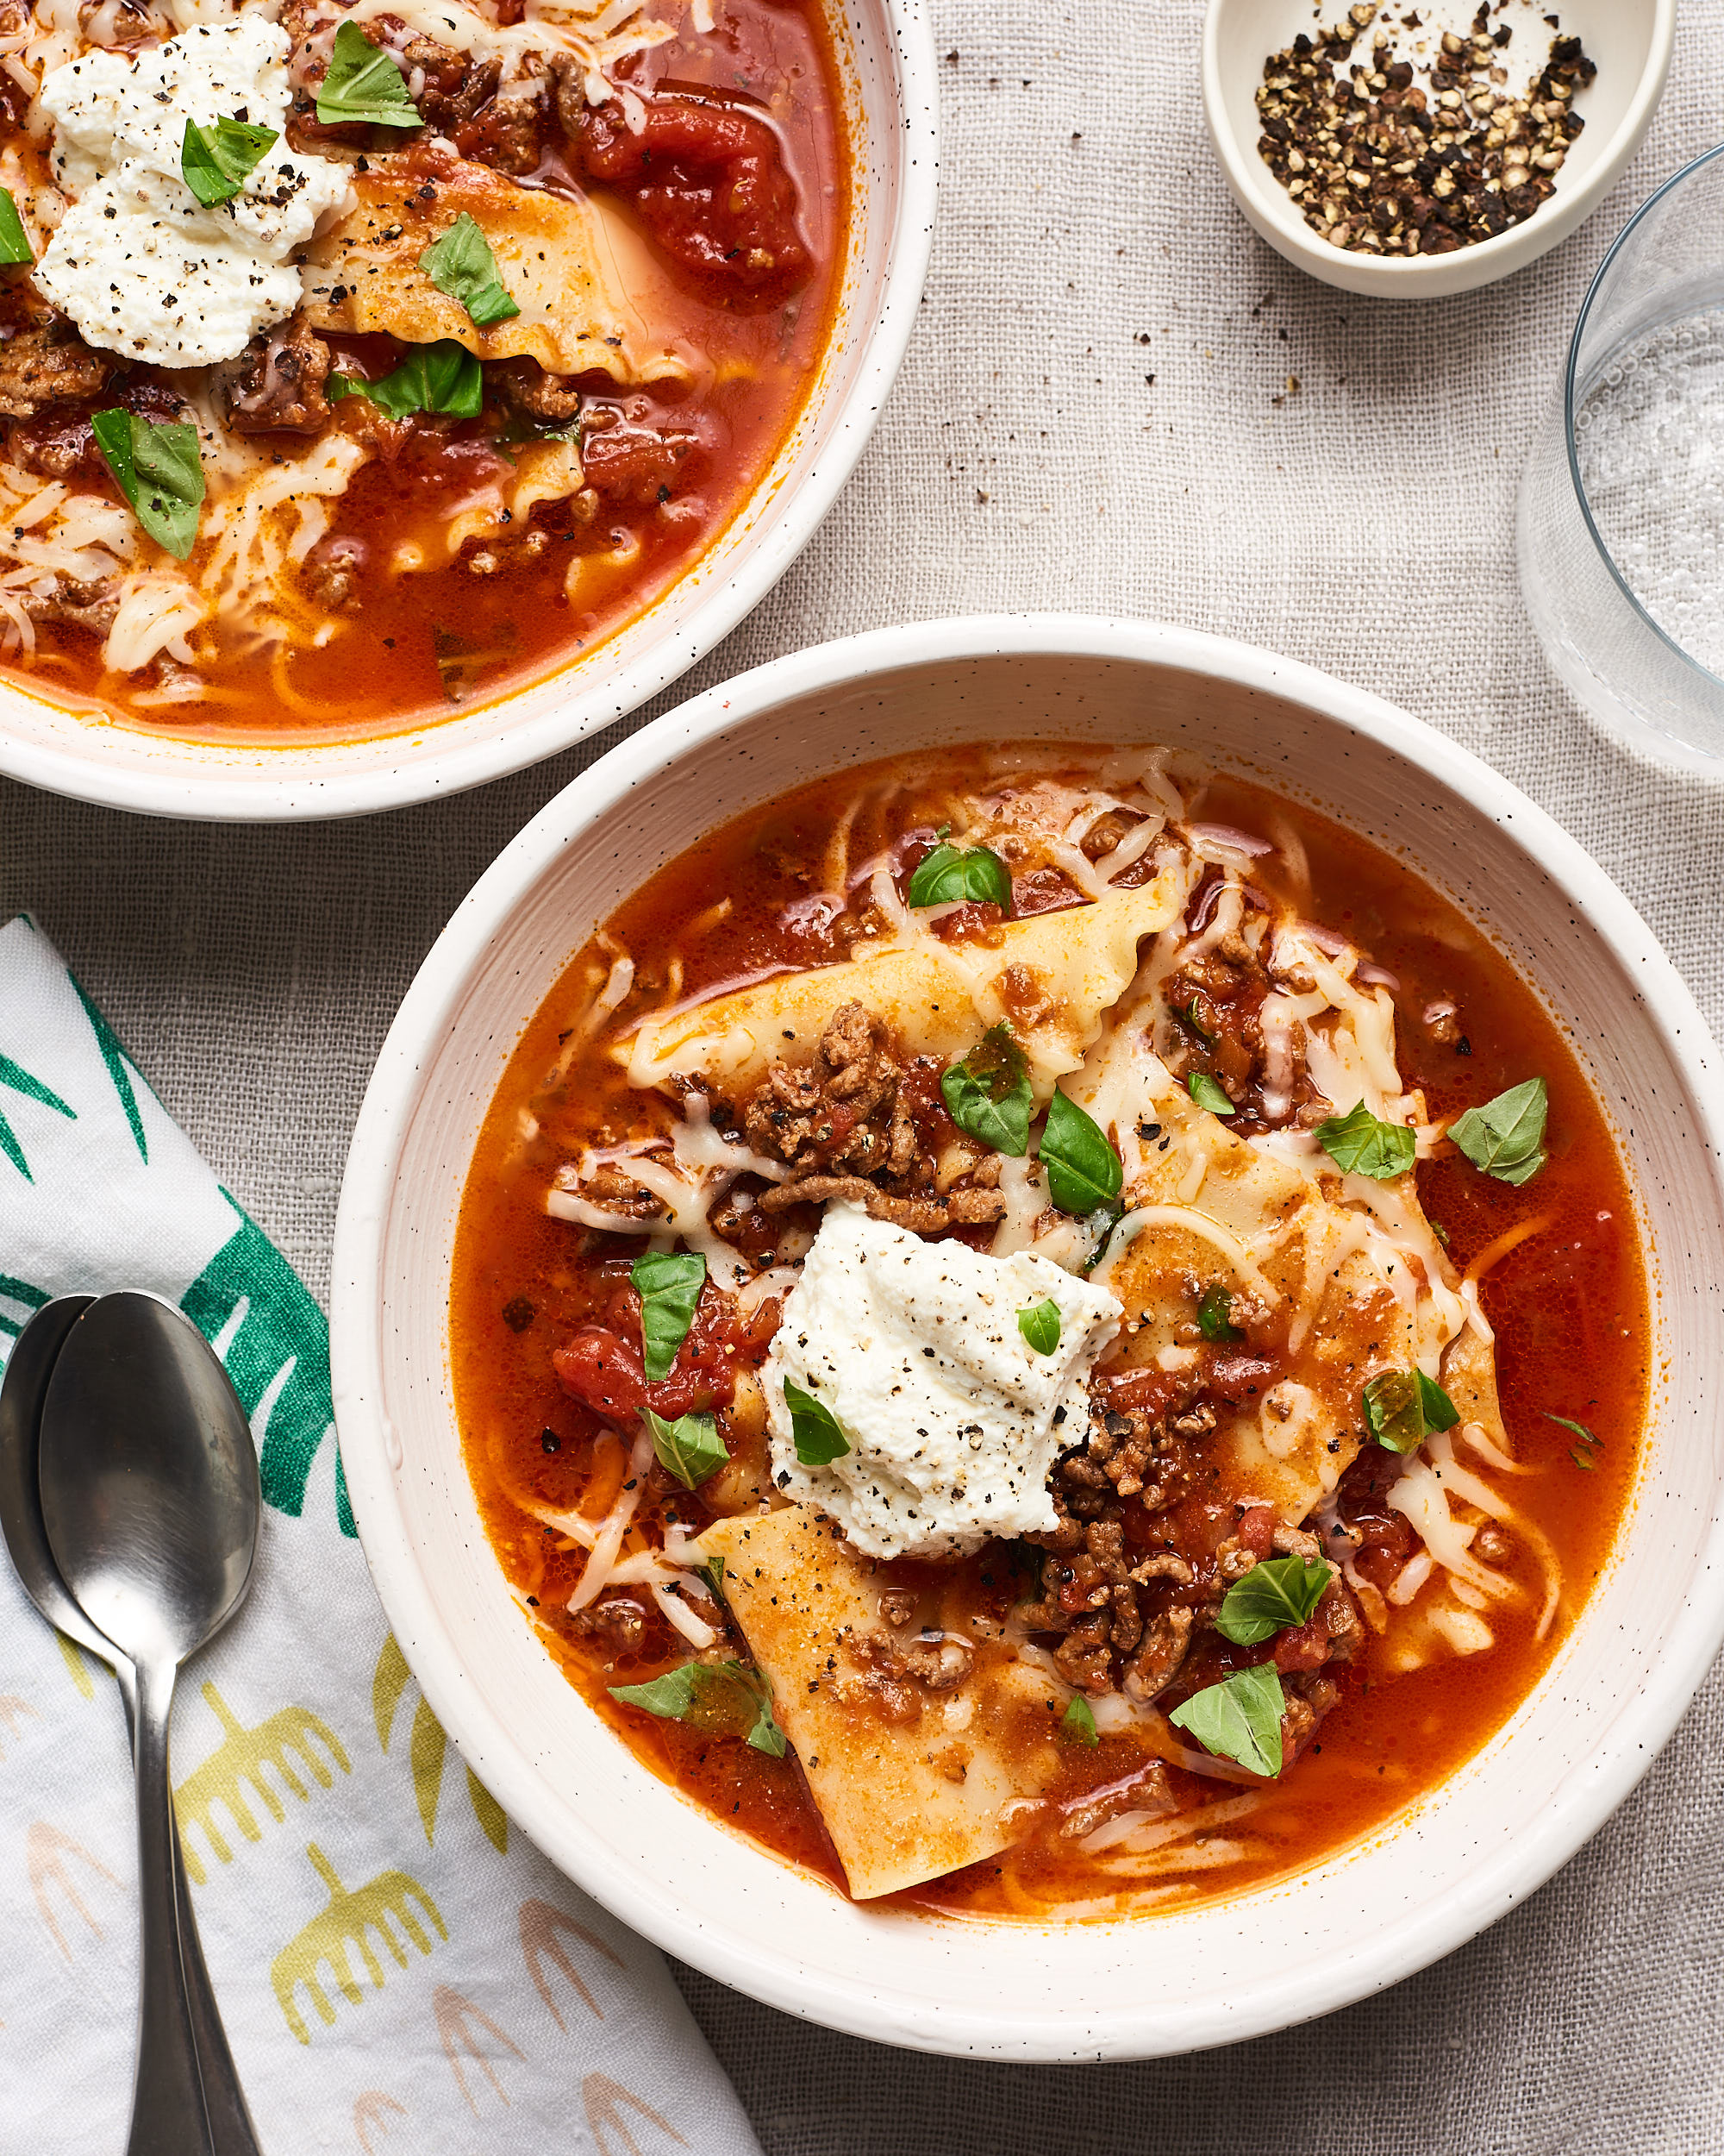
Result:
M172 1699L175 1664L140 1664L134 1764L144 1953L127 2156L213 2156L175 1908L175 1807L168 1785Z

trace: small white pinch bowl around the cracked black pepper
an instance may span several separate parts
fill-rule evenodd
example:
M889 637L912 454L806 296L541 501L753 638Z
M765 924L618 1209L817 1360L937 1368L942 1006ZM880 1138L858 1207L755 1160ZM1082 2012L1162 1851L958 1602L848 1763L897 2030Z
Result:
M1299 216L1259 153L1263 127L1256 91L1263 63L1284 52L1304 30L1347 15L1347 0L1209 0L1202 26L1202 112L1233 198L1252 229L1299 270L1308 270L1340 291L1373 293L1381 300L1437 300L1455 291L1476 291L1524 270L1586 222L1640 149L1670 75L1677 43L1677 0L1521 0L1530 22L1543 26L1558 15L1562 34L1580 37L1599 63L1597 82L1582 91L1575 110L1586 127L1556 175L1552 198L1496 239L1459 248L1455 254L1377 257L1330 246ZM1476 0L1420 0L1424 24L1461 30L1472 22ZM1394 4L1384 15L1396 19L1412 9ZM1496 17L1493 17L1496 19ZM1511 11L1511 17L1517 15ZM1545 28L1545 34L1552 34ZM1366 41L1373 30L1364 32ZM1519 84L1517 84L1519 88Z

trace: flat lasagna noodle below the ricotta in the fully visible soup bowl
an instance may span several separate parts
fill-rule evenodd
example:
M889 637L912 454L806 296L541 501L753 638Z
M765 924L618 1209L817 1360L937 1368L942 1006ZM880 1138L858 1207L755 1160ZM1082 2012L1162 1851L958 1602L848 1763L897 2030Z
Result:
M871 1902L1009 1848L1015 1798L1056 1766L1054 1742L1024 1757L1000 1733L1024 1708L1052 1731L1062 1686L1021 1662L989 1662L914 1720L886 1720L851 1643L881 1634L875 1567L832 1520L800 1505L720 1520L700 1550L724 1559L724 1598L774 1692L849 1891Z

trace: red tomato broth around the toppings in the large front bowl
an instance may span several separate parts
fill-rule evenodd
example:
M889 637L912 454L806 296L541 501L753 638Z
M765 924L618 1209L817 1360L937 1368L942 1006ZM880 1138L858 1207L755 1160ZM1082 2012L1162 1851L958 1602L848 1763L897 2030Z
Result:
M1047 763L1058 768L1056 748L1047 750ZM974 783L974 770L959 757L918 759L918 770L944 770L955 791ZM886 785L896 776L892 765L868 765L804 787L722 826L642 884L608 923L638 962L636 990L618 1020L666 1000L672 951L683 959L677 1000L761 970L843 955L830 944L830 923L812 918L808 884L819 888L832 826L858 793L875 789L856 817L853 862L873 845L903 843L905 832L929 828L927 800L914 787L892 791ZM937 793L937 785L929 791ZM1179 1906L1265 1884L1355 1843L1455 1774L1502 1727L1549 1667L1610 1561L1633 1485L1651 1378L1649 1294L1633 1201L1597 1095L1537 994L1412 869L1325 817L1243 780L1213 783L1194 813L1248 830L1265 830L1276 815L1291 821L1310 860L1312 886L1304 901L1310 918L1343 929L1401 981L1394 990L1401 1067L1407 1084L1424 1089L1431 1115L1459 1112L1534 1074L1549 1084L1549 1164L1534 1181L1517 1190L1457 1156L1420 1164L1418 1184L1461 1270L1506 1229L1549 1216L1543 1233L1489 1270L1480 1294L1498 1328L1508 1436L1517 1460L1539 1468L1515 1481L1513 1498L1556 1544L1565 1593L1549 1636L1537 1641L1539 1567L1517 1546L1506 1570L1532 1589L1530 1604L1493 1611L1496 1647L1489 1654L1379 1675L1366 1643L1362 1662L1343 1675L1340 1703L1254 1811L1256 1854L1183 1882ZM1274 888L1278 860L1259 865L1254 880ZM715 893L731 910L705 925ZM453 1268L455 1399L474 1492L498 1559L515 1585L539 1593L541 1611L573 1589L580 1554L545 1559L547 1531L511 1503L506 1481L519 1477L558 1507L580 1498L597 1425L558 1386L550 1354L569 1330L590 1322L601 1302L571 1261L580 1231L547 1218L543 1190L580 1143L614 1143L640 1125L638 1097L608 1056L588 1054L578 1082L571 1076L556 1080L567 1028L590 994L584 985L590 972L593 946L575 957L522 1035L474 1151ZM1435 998L1457 1005L1470 1054L1431 1037L1422 1013ZM524 1145L517 1132L528 1108L539 1134ZM606 1268L614 1283L627 1276L638 1248L642 1244L618 1248ZM522 1332L502 1317L511 1298L534 1304L532 1324ZM1586 1423L1601 1447L1577 1447L1567 1429L1545 1421L1547 1412ZM558 1434L558 1453L543 1451L543 1429ZM1595 1462L1590 1470L1573 1464L1573 1449ZM1373 1449L1371 1457L1386 1455ZM670 1509L687 1520L703 1518L698 1503L681 1492ZM1006 1546L991 1544L959 1567L937 1570L961 1578L953 1593L1011 1600L1024 1589L1000 1580L1002 1565L1011 1570L1013 1557ZM993 1578L983 1585L989 1572ZM1228 1654L1215 1639L1207 1649L1211 1660L1215 1649L1215 1667L1263 1660L1271 1651ZM642 1682L687 1658L685 1643L668 1626L659 1623L629 1662L606 1664L575 1639L558 1639L556 1651L569 1680L651 1772L713 1818L843 1887L793 1755L769 1759L735 1736L724 1740L649 1720L610 1699L612 1684ZM1136 1738L1121 1736L1106 1736L1095 1751L1073 1746L1049 1796L1106 1787L1151 1757ZM1183 1768L1170 1772L1187 1805L1237 1794ZM1095 1891L1093 1878L1073 1889L1067 1869L1058 1848L1030 1839L1000 1858L890 1899L957 1915L1045 1915L1073 1891Z

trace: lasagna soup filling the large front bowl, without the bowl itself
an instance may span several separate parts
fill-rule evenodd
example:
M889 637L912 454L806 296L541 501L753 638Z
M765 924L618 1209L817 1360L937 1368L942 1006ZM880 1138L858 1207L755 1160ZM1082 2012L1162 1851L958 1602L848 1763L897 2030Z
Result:
M927 1554L953 1490L912 1492L868 1554L804 1466L800 1272L868 1238L1009 1319L1116 1298L1043 1529ZM707 1279L644 1386L672 1248ZM1084 1917L1308 1865L1500 1727L1608 1561L1649 1307L1573 1048L1446 899L1248 783L1026 746L806 787L616 910L485 1123L453 1354L496 1554L638 1759L840 1891Z

